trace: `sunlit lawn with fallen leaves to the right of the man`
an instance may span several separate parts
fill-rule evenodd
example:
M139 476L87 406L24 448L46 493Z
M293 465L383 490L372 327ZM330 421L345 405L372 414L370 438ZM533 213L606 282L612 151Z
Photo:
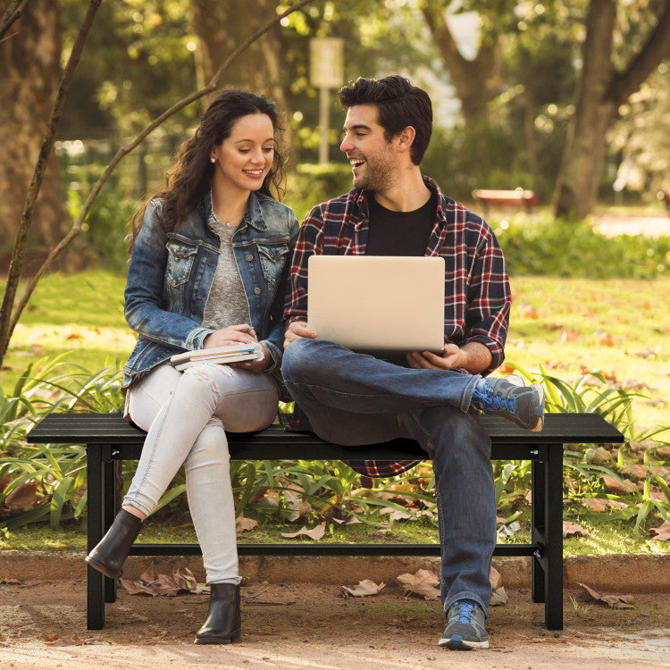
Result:
M507 362L574 381L582 370L637 390L640 426L670 424L670 279L577 280L513 277ZM509 372L502 368L501 372Z

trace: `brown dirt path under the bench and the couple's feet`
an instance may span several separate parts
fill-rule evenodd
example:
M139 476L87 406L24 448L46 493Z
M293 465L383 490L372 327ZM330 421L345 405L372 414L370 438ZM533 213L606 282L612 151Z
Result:
M388 591L388 592L384 592ZM565 630L547 631L543 606L524 590L491 609L491 649L437 647L444 626L435 601L386 587L368 599L342 598L333 586L253 584L242 588L243 640L193 645L206 596L150 598L121 590L102 631L86 629L84 582L0 585L0 667L463 668L670 667L670 594L636 596L613 610L565 593Z

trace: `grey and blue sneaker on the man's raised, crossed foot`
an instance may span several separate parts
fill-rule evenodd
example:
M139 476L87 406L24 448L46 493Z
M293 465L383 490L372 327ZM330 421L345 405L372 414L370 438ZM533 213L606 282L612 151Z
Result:
M472 403L482 412L504 416L532 432L539 432L544 426L542 385L524 386L521 377L515 374L480 381L474 387Z

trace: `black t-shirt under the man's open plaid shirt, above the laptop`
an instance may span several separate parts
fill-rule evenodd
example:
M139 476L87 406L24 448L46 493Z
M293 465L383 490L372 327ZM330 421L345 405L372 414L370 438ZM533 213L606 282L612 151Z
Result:
M370 211L365 255L425 255L438 210L438 195L432 192L425 205L413 212L394 212L367 194Z

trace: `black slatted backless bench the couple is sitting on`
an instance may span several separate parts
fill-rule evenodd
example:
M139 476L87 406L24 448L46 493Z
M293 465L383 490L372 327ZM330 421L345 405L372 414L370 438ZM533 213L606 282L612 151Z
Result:
M523 431L503 418L483 415L493 445L492 460L532 461L532 538L530 544L498 544L497 556L532 557L532 599L545 604L545 624L563 628L563 446L570 443L623 442L624 436L599 415L548 415L544 430ZM85 444L88 467L88 550L93 549L116 514L114 470L117 461L139 458L145 433L120 415L47 415L28 435L32 443ZM237 460L425 459L413 440L347 448L314 435L266 431L229 434L230 457ZM274 556L439 556L438 544L239 544L244 555ZM191 556L197 544L135 544L139 556ZM116 582L88 566L88 628L105 624L105 602L116 599Z

